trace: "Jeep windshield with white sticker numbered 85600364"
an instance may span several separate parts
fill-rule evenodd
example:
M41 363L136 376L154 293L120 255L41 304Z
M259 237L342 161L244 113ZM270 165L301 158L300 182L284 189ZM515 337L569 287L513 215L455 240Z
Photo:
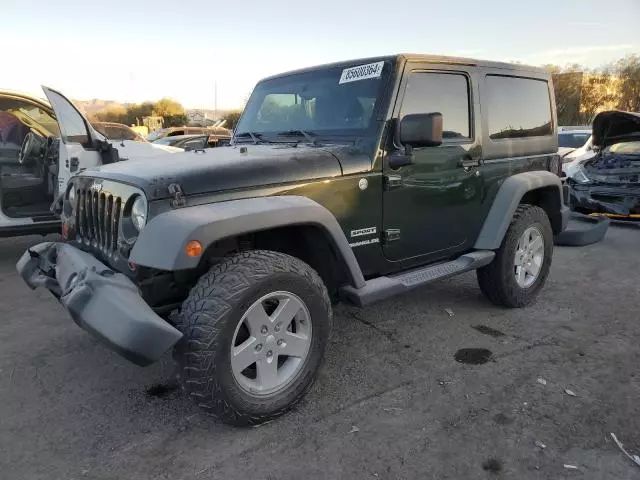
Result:
M259 83L236 128L236 136L287 132L363 136L375 128L374 112L390 64L340 66Z

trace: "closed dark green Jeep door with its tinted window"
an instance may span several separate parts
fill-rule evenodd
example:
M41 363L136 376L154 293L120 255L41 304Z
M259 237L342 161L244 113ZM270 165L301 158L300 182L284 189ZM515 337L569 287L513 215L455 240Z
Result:
M472 244L482 198L476 84L473 72L459 66L407 64L393 116L400 122L408 114L441 113L443 141L414 148L409 165L394 170L384 163L387 259L428 262ZM395 148L398 154L403 146Z

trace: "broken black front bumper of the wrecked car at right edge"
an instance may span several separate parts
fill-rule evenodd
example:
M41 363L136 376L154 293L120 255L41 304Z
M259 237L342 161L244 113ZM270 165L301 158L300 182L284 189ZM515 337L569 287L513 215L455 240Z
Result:
M574 184L571 186L569 202L572 210L588 215L640 219L640 185L616 187Z

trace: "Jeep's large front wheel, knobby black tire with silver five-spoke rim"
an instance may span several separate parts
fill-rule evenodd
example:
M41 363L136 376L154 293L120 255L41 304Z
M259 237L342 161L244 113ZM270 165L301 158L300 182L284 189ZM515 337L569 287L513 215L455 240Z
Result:
M271 420L311 387L331 324L327 289L306 263L266 250L229 257L183 303L183 386L225 423Z

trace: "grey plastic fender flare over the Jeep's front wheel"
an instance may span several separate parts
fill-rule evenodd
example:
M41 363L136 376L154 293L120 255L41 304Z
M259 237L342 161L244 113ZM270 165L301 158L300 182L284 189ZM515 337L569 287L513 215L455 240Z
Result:
M200 258L189 257L185 246L199 241L204 249L218 240L291 225L320 227L345 266L350 283L365 281L349 242L336 218L322 205L300 196L256 197L197 205L161 213L138 237L129 260L160 270L186 270Z

